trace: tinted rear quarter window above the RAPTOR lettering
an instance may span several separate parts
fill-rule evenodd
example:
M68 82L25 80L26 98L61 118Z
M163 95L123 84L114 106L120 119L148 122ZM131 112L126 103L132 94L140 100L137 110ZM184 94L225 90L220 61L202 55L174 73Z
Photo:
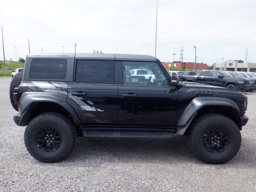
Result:
M66 79L66 59L32 59L30 79Z

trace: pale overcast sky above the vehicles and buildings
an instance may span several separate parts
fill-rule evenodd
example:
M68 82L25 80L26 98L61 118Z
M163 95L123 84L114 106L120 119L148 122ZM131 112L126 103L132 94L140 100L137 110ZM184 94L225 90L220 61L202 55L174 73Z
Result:
M156 57L209 65L222 59L256 63L255 0L158 0ZM155 56L156 0L1 0L7 60L30 53ZM2 33L1 33L2 35ZM64 48L62 48L64 46ZM0 60L3 60L0 40Z

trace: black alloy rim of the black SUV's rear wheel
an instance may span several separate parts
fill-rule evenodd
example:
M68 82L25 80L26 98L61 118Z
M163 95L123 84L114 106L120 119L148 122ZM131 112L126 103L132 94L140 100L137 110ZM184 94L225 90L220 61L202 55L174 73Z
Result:
M61 135L52 127L44 127L36 136L36 145L46 152L55 151L61 145Z

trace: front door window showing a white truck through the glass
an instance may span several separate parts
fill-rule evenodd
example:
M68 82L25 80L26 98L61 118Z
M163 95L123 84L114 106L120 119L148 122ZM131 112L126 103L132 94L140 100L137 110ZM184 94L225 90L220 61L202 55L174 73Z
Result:
M169 86L162 69L155 62L122 62L124 85ZM126 71L130 72L127 75Z

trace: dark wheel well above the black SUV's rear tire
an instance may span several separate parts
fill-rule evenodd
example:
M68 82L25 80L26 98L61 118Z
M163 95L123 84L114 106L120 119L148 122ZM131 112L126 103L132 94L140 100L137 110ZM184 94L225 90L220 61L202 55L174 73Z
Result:
M46 113L46 112L57 112L64 116L67 116L71 122L74 123L74 117L71 116L71 114L62 107L61 105L53 102L34 102L32 103L28 109L26 110L26 116L23 119L22 124L27 125L34 117ZM79 128L76 126L76 131L79 134Z

